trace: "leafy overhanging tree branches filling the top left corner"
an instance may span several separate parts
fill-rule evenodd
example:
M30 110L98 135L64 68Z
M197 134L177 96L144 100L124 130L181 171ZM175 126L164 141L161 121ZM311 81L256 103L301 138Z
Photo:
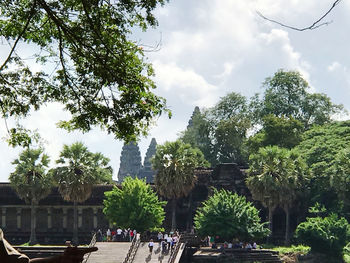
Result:
M25 118L59 102L71 113L59 125L68 130L101 126L126 140L145 134L167 109L151 92L148 50L131 40L131 32L156 26L152 12L165 1L1 1L0 36L11 45L0 64L2 117ZM21 57L20 44L31 45L31 63ZM46 71L34 71L33 63Z

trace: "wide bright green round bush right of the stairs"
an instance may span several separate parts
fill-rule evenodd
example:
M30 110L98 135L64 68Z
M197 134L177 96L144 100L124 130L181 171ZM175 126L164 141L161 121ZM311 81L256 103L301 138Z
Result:
M220 236L226 240L253 240L269 234L260 223L259 211L244 196L214 189L213 196L202 203L194 217L200 235Z

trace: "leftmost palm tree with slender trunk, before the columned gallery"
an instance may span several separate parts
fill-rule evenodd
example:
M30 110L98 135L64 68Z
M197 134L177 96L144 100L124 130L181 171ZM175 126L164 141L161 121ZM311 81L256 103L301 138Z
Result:
M31 206L30 239L31 245L36 244L36 206L45 198L52 187L52 177L47 172L49 157L43 149L27 148L14 160L15 171L9 180L18 196Z

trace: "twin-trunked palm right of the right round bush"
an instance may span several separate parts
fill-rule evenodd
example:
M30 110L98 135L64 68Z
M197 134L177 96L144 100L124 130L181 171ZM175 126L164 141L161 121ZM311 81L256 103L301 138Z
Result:
M305 164L295 152L277 146L260 148L249 161L247 186L253 198L268 209L271 233L275 208L279 206L285 211L285 243L289 244L290 209L306 178Z

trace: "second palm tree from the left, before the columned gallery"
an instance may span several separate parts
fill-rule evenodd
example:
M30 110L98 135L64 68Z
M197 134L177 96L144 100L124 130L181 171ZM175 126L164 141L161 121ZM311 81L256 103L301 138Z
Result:
M78 244L77 204L90 197L94 184L112 181L112 168L108 166L108 158L90 152L81 142L64 145L56 163L59 166L53 174L58 190L64 200L74 205L73 242Z

